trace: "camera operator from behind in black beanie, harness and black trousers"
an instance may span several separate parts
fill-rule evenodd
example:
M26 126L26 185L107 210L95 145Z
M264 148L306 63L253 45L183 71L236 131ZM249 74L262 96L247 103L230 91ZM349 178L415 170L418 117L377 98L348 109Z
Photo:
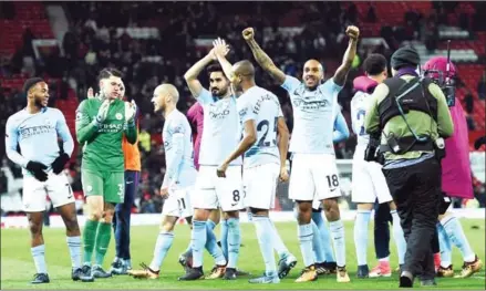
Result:
M454 131L442 90L421 79L417 65L411 46L392 55L393 77L376 86L364 119L366 133L380 136L383 174L407 241L400 287L412 287L416 276L423 285L435 284L431 241L441 199L442 138Z

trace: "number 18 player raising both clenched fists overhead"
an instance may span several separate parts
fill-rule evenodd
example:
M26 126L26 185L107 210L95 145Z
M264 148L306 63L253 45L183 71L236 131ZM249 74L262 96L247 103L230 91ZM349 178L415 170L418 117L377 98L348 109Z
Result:
M360 31L348 27L350 38L342 64L334 76L323 82L322 65L309 60L303 66L302 82L286 75L271 61L255 41L252 28L242 31L242 37L254 53L258 64L267 71L287 92L292 103L294 127L290 141L293 154L292 178L289 185L289 198L297 201L298 236L304 261L304 270L299 282L317 280L316 261L312 254L313 230L311 225L312 200L323 202L328 218L337 259L338 282L349 282L345 269L344 226L342 224L338 198L341 196L335 153L332 144L333 122L340 112L338 94L344 86L351 69Z

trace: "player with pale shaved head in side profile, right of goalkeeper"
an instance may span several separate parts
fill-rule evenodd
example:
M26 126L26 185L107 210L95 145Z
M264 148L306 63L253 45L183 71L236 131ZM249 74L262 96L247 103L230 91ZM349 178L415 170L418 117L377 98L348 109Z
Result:
M165 123L162 132L164 141L166 172L161 187L165 198L162 209L162 225L155 242L154 257L143 270L130 270L135 278L157 279L161 264L174 241L174 227L179 217L193 216L190 191L196 181L193 160L192 129L186 116L177 108L179 93L172 84L162 84L154 91L154 112L162 112Z

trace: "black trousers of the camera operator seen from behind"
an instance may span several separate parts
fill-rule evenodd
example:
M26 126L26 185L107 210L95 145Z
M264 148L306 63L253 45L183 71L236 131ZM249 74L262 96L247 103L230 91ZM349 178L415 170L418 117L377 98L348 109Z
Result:
M418 164L383 169L396 204L406 240L404 271L422 280L435 277L432 240L441 200L441 163L435 158Z

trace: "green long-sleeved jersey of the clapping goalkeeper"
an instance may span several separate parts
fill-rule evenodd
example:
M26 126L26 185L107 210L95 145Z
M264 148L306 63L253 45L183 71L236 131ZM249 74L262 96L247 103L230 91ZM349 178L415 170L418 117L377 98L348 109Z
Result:
M125 102L115 100L108 107L106 119L99 124L96 115L103 101L84 100L76 111L76 137L84 147L82 169L124 172L123 134L128 143L136 142L135 122L125 122Z

